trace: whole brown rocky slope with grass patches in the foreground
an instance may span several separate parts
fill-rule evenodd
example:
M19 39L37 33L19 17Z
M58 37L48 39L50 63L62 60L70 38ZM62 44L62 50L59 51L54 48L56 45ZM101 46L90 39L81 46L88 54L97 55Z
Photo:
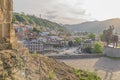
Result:
M0 51L0 71L0 80L101 80L58 60L14 50Z

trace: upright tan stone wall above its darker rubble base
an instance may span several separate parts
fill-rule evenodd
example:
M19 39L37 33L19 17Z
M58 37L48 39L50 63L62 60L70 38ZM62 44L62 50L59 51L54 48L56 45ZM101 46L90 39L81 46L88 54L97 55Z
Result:
M12 28L12 11L12 0L0 0L0 38L15 37L15 34L11 35L11 32L14 33L14 30Z

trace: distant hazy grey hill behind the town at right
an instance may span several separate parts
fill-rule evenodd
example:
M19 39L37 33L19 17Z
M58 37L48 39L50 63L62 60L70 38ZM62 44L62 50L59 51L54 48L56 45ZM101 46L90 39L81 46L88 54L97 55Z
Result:
M102 31L108 28L110 25L115 26L115 32L120 34L120 19L113 18L104 21L89 21L75 25L65 25L65 27L72 31L86 31L93 33L102 33Z

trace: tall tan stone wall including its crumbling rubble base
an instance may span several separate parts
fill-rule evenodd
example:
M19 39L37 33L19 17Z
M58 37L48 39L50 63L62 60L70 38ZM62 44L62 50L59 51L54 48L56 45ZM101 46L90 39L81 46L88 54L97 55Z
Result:
M12 24L13 1L0 0L0 50L14 48L17 44Z

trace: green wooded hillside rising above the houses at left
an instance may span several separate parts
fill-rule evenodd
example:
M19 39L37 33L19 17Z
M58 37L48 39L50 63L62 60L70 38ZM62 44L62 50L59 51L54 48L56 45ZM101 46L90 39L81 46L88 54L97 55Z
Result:
M55 22L48 21L36 17L35 15L25 15L24 13L13 13L13 23L19 22L27 25L33 25L37 27L40 31L43 30L57 30L60 32L65 32L65 28Z

